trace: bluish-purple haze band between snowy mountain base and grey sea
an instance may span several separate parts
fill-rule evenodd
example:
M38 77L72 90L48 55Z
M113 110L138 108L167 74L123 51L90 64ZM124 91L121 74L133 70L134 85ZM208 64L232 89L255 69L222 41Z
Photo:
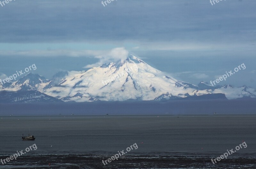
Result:
M256 100L0 104L1 115L217 115L255 114Z

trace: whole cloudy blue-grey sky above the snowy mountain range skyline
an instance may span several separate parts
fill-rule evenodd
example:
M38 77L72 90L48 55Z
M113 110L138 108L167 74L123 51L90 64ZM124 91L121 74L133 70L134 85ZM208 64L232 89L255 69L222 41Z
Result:
M122 48L174 78L256 88L256 1L12 0L0 4L0 78L36 64L50 79ZM120 58L113 57L112 60Z

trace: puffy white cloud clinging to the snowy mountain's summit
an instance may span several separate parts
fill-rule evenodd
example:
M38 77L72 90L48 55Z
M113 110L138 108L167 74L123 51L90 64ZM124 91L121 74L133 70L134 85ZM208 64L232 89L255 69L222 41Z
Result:
M101 66L104 63L110 63L114 61L124 61L127 59L129 52L124 47L118 47L114 48L111 51L109 51L107 54L95 56L95 58L99 59L99 62L86 65L83 68L92 68Z

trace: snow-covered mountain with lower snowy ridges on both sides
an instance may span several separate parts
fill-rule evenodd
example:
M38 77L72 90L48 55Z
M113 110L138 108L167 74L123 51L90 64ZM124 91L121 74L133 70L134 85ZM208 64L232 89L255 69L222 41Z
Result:
M133 55L123 62L103 64L87 71L61 72L52 80L38 74L28 74L0 90L37 90L65 102L163 101L217 93L225 94L228 99L244 96L256 98L255 89L246 86L212 87L206 82L193 85L178 81Z

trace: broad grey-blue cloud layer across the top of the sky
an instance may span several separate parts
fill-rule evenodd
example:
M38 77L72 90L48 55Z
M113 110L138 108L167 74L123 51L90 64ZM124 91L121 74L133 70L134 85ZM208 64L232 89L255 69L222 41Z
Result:
M232 5L219 5L218 10L222 15L215 17L211 17L214 8L209 5L209 1L117 1L115 7L110 5L104 10L101 2L62 1L16 1L11 4L12 7L6 5L0 10L2 16L8 11L8 19L0 18L0 22L4 23L1 25L0 42L65 42L85 39L100 42L106 39L161 42L184 39L187 42L195 39L198 42L212 42L214 46L225 39L228 42L225 44L254 43L255 39L255 10L251 8L256 4L254 1L234 1ZM137 10L134 6L142 8ZM19 10L21 7L22 11ZM245 12L238 13L236 7ZM152 10L156 10L157 14ZM33 16L31 12L34 12ZM34 29L29 29L32 25ZM244 32L237 33L238 30ZM194 49L197 46L184 47Z

